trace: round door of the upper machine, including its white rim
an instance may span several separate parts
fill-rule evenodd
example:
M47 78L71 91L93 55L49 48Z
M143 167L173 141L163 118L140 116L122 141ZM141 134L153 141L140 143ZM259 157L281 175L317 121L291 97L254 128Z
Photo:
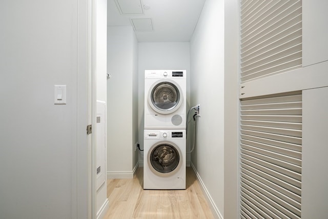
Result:
M157 81L149 90L149 105L158 113L169 114L182 104L182 91L180 86L169 79Z

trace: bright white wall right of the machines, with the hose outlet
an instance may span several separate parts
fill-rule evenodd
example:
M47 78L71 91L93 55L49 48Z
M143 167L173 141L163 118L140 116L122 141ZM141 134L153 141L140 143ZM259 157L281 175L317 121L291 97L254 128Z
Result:
M190 42L191 105L201 105L192 164L223 215L224 4L207 0Z

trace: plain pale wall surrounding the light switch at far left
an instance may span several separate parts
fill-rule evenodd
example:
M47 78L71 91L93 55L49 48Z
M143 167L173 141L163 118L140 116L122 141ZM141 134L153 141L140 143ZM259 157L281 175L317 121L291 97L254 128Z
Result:
M79 108L77 101L86 96L78 92L87 87L80 65L87 52L79 50L86 48L86 34L80 35L85 29L78 23L87 21L80 11L86 1L78 2L0 2L0 218L77 218L86 212L76 205L87 201L86 187L80 200L76 196L76 155L86 148L77 136L83 126L86 140L87 119L78 120L86 114L85 103ZM56 84L67 85L67 105L54 105Z

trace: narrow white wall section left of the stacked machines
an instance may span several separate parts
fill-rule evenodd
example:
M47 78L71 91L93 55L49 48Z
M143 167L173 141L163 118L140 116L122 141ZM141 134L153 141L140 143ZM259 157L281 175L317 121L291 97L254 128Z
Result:
M107 115L108 177L132 177L137 162L134 158L133 101L136 90L136 37L132 27L109 27L108 32Z

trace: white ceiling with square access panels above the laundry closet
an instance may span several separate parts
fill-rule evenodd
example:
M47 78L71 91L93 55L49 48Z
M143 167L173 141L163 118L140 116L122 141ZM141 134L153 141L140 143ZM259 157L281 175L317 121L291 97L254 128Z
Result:
M128 7L127 10L143 11L143 14L121 14L115 0L108 0L108 26L132 26L134 23L142 27L143 22L146 22L148 29L152 29L150 25L153 25L151 31L135 31L139 42L189 42L205 2L205 0L116 1L121 8ZM145 9L145 5L150 8ZM132 22L131 19L135 20Z

